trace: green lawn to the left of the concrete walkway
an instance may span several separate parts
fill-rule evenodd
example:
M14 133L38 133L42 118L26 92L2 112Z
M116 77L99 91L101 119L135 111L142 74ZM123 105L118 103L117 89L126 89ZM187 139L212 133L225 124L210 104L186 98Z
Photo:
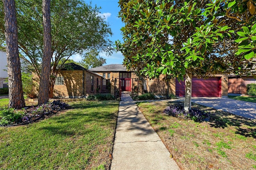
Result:
M0 127L0 169L109 169L118 102L70 105L37 123Z

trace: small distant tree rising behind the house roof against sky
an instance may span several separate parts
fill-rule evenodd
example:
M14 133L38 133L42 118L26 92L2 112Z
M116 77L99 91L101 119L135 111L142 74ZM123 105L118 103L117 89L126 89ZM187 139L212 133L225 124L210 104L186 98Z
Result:
M92 49L91 51L84 54L84 58L80 61L80 65L86 69L94 68L98 66L102 66L106 64L106 59L99 57L99 52L96 49Z

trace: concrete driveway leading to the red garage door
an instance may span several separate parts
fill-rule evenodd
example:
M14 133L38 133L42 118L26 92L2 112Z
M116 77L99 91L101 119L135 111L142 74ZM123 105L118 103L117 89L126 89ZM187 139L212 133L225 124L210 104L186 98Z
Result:
M250 119L256 119L256 103L229 98L192 97L192 102L203 106L228 111Z

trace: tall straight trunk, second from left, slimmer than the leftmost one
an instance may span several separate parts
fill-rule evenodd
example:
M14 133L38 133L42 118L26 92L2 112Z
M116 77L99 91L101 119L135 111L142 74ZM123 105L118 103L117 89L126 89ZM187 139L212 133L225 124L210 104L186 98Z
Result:
M44 55L38 92L38 105L49 101L50 71L52 57L52 37L50 20L50 0L43 0Z

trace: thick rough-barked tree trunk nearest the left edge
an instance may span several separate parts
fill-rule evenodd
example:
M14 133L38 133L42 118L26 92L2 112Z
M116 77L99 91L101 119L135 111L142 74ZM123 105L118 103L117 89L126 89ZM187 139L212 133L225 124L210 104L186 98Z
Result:
M20 70L20 58L18 51L18 28L14 0L3 0L6 55L8 67L9 108L20 109L25 106L22 79Z

